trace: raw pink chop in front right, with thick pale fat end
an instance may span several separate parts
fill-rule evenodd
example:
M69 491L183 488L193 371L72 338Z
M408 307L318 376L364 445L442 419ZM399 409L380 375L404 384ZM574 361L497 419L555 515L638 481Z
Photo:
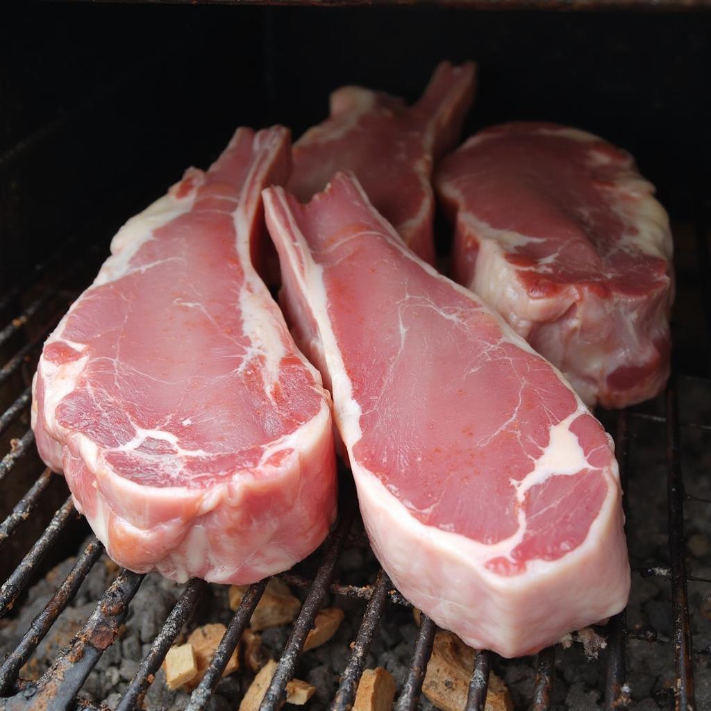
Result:
M407 250L355 177L264 193L297 342L331 384L378 559L474 647L518 656L621 610L611 441L560 373Z

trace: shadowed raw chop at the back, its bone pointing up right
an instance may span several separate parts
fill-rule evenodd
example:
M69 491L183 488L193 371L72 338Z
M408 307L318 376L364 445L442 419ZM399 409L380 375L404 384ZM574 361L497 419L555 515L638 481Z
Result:
M432 164L454 149L472 101L472 63L442 62L412 107L384 93L341 87L331 94L331 116L294 144L289 190L306 202L336 171L354 171L405 244L433 262Z

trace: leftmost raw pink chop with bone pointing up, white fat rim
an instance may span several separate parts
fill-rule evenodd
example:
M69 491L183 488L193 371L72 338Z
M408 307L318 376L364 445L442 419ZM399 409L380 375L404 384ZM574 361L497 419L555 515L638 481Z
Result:
M328 394L250 262L288 171L286 129L239 129L119 230L44 346L40 454L132 570L249 583L328 533Z

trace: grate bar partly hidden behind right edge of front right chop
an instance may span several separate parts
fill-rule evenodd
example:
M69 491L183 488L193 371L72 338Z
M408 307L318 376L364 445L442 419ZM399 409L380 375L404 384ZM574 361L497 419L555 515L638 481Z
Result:
M629 482L629 411L621 410L617 415L617 437L615 439L617 463L622 487L622 506L627 513L626 491ZM608 625L607 672L605 683L605 709L614 711L629 706L629 687L626 685L626 614L616 614Z

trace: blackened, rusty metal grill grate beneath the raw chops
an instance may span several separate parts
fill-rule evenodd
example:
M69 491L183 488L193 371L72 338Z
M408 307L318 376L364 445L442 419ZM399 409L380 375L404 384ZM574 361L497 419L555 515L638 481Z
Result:
M705 235L697 232L698 263L707 263ZM81 269L73 267L60 279L53 280L53 285L46 285L50 267L63 262L65 255L71 250L68 245L57 255L44 264L33 269L31 279L22 288L14 289L0 301L0 311L11 316L11 310L17 309L17 315L0 331L0 346L7 350L15 346L15 352L3 368L0 368L0 385L6 392L2 393L11 405L0 417L0 434L16 427L21 417L26 417L30 403L28 379L38 357L41 345L51 328L58 322L61 314L75 292L63 292L65 284L76 281L77 272ZM87 274L91 273L92 260L84 265ZM35 294L28 295L28 292ZM39 294L38 296L36 294ZM707 311L709 304L706 289L696 295L700 298L699 309L703 309L706 323L711 323L711 314ZM18 304L27 303L24 308ZM11 378L20 373L22 377ZM680 424L678 406L678 378L686 377L673 374L665 393L665 414L651 415L648 412L624 410L612 416L616 418L616 447L619 459L621 478L626 489L631 458L634 456L631 446L631 422L637 420L640 424L657 423L665 426L666 470L668 481L668 545L670 565L636 570L642 576L654 575L668 578L671 589L671 614L673 614L673 638L666 639L657 634L656 630L646 626L643 629L627 629L625 612L611 619L604 629L607 640L606 654L598 663L606 664L604 705L606 709L620 709L631 704L631 695L626 684L626 660L629 654L628 641L631 638L645 640L658 646L673 646L675 664L673 675L675 685L671 703L676 710L693 711L695 708L693 658L695 655L708 655L709 648L695 651L692 647L690 621L688 610L687 581L711 582L702 577L688 576L685 571L685 539L684 539L684 503L685 495L682 481L682 456L680 451L680 427L695 429L711 429L703 422L684 422ZM695 376L696 377L696 376ZM711 380L705 380L711 383ZM652 426L649 424L648 426ZM20 461L33 451L33 434L28 430L21 437L12 439L9 451L0 461L0 486ZM10 515L0 523L0 549L16 533L23 522L36 515L36 509L41 506L43 495L53 482L55 475L48 469L41 470L38 478L27 493L16 504ZM1 491L1 489L0 489ZM292 586L307 590L306 599L301 607L292 633L284 648L274 674L272 683L262 702L262 711L274 711L282 705L287 682L292 675L299 654L304 646L314 617L324 596L334 593L355 599L367 600L363 619L360 622L358 634L352 646L348 665L343 670L340 685L333 697L334 711L346 711L353 705L358 680L363 673L365 658L373 641L373 636L383 615L387 614L389 605L409 606L407 601L394 589L385 572L380 570L373 585L346 585L334 582L333 575L336 562L348 544L351 526L355 517L355 494L346 497L349 503L341 510L338 525L331 535L330 543L321 560L315 577L307 578L294 572L283 574L286 582ZM15 604L18 596L31 579L33 572L43 557L55 545L70 522L75 520L77 512L71 498L55 513L48 527L40 538L31 546L20 564L4 581L0 589L0 616L6 614ZM661 523L661 522L660 522ZM76 700L77 693L82 688L87 675L99 660L105 649L114 642L119 634L119 627L126 618L129 604L139 589L144 578L128 570L118 572L114 581L102 599L97 602L94 612L87 619L80 631L71 641L68 648L54 661L50 670L37 681L25 681L18 678L21 667L30 658L33 651L48 633L54 621L70 603L80 584L97 562L103 552L103 547L93 539L81 552L75 565L66 579L61 582L55 594L49 600L46 608L36 617L30 629L23 636L17 648L7 656L0 665L0 708L21 710L30 708L65 709L70 707L91 708L85 701ZM188 708L191 711L203 709L210 695L220 680L221 674L232 652L237 646L245 627L249 623L252 611L260 600L266 581L253 584L235 611L227 631L215 653L213 661L201 683L193 691ZM119 703L119 711L129 711L140 707L141 700L154 679L166 652L181 632L183 624L188 620L191 611L195 609L198 599L205 590L206 584L193 579L188 582L184 592L178 599L173 610L167 617L164 626L154 639L150 651L141 661L137 673L130 683L124 697ZM472 604L476 604L476 600ZM411 711L417 707L422 690L422 681L427 667L427 661L432 654L435 626L426 616L422 616L419 633L412 649L410 667L400 695L397 698L398 711ZM535 685L530 699L530 708L535 711L549 709L552 705L552 685L555 677L556 656L565 656L562 648L548 648L538 655L536 663ZM480 651L476 656L474 674L469 685L468 711L483 710L486 702L488 675L494 655L488 651ZM593 663L593 662L591 662Z

